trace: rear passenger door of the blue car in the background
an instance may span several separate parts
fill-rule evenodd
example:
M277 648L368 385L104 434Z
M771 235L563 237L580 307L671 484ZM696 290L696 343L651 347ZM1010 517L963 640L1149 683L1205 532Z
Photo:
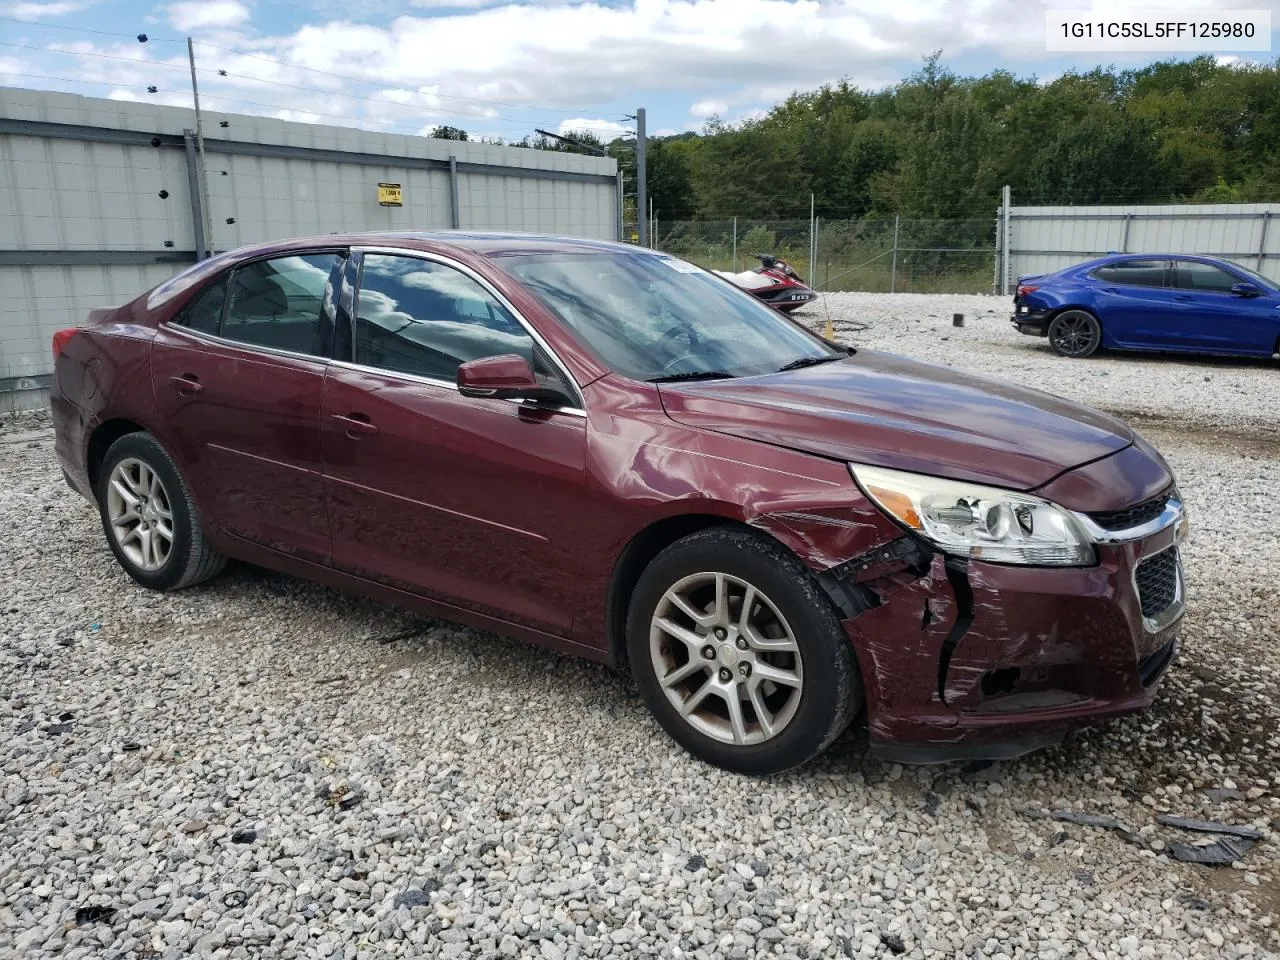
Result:
M1100 266L1092 276L1098 284L1103 343L1158 347L1169 342L1175 311L1167 260L1117 260Z

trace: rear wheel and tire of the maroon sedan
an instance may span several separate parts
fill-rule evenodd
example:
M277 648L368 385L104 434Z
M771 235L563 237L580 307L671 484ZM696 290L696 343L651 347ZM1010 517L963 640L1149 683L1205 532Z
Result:
M99 476L102 532L115 559L137 582L152 590L180 590L227 566L227 558L205 539L200 511L177 465L151 434L125 434L113 443Z

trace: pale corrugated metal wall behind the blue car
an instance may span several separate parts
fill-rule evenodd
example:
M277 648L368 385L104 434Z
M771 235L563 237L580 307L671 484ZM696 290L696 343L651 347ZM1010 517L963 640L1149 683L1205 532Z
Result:
M1203 253L1280 280L1280 204L1011 206L1010 279L1106 253Z

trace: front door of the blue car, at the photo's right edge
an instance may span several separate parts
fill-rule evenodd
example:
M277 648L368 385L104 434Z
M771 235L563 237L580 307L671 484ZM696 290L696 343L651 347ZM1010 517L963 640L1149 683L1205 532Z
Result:
M1188 347L1268 356L1275 351L1280 311L1268 291L1257 297L1231 293L1244 279L1198 260L1175 260L1174 275L1178 326Z

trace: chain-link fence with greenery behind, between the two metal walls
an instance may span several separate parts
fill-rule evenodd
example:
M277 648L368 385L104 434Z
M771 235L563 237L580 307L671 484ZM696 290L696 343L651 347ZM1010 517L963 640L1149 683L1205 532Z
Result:
M652 246L710 270L751 270L756 253L791 264L820 291L991 293L997 221L676 220L653 224ZM812 251L817 250L817 256Z

